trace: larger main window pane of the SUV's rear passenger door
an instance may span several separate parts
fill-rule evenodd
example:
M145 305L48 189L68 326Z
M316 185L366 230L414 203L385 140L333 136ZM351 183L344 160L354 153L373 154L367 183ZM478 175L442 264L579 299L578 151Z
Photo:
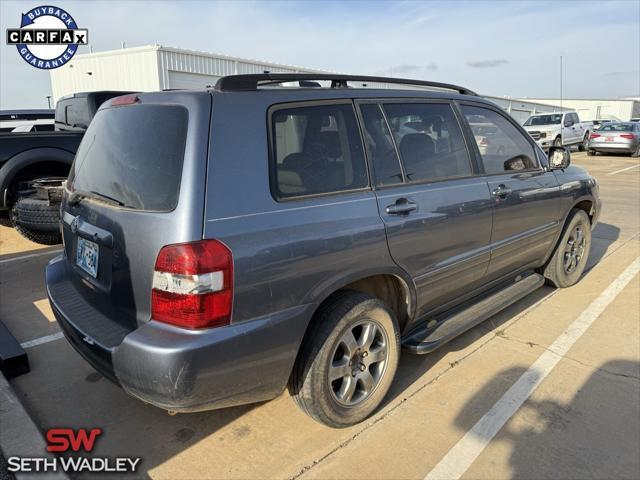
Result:
M384 109L408 181L471 174L462 131L449 105L390 103Z

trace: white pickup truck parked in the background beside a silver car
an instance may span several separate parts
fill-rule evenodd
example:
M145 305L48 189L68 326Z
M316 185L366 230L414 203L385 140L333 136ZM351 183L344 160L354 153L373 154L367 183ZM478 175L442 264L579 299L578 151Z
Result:
M577 145L586 150L593 122L581 122L576 112L541 113L531 115L523 124L540 147Z

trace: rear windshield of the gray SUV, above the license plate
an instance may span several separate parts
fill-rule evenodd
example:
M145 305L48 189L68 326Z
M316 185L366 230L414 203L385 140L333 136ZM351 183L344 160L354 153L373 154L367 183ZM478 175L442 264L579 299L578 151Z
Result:
M100 110L76 153L69 184L139 210L178 203L187 110L136 105Z

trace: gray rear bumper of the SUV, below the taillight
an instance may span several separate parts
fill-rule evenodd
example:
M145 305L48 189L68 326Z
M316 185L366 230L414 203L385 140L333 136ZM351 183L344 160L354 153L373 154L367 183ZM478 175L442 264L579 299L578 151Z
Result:
M71 345L130 395L177 412L269 400L286 387L313 305L227 327L191 331L149 321L107 347L74 321L50 285L63 257L47 266L52 310ZM52 294L53 292L53 294ZM70 305L70 304L69 304Z

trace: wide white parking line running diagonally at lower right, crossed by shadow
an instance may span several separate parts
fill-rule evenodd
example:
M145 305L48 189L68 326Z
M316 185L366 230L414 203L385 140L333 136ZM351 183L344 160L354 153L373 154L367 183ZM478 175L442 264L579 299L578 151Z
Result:
M535 363L514 383L464 437L456 443L425 480L459 479L478 458L493 437L542 383L574 343L640 272L640 257L629 265L598 298L569 325Z

